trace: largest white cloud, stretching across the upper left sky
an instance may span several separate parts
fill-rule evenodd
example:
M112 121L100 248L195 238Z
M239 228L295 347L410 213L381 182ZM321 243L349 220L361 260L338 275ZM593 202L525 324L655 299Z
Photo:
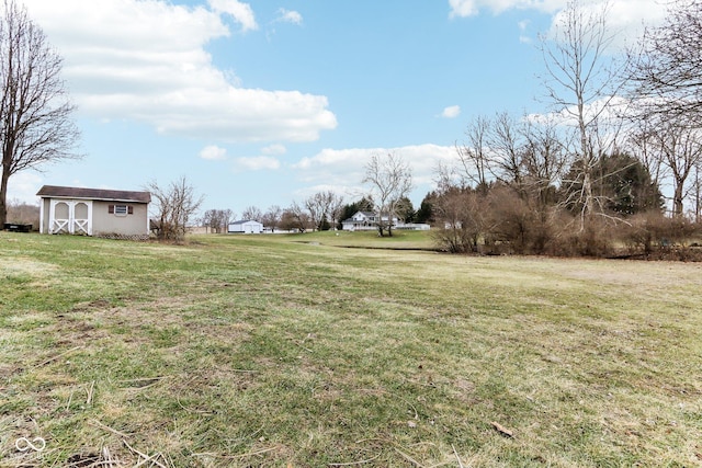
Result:
M212 141L310 141L337 126L326 96L241 88L205 46L230 34L222 14L253 27L248 4L213 9L165 0L25 0L65 58L83 115L134 119L161 134Z

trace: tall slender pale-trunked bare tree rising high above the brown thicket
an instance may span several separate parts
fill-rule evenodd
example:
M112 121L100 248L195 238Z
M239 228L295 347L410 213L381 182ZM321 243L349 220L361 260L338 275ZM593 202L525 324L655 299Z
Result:
M579 170L575 180L564 183L580 187L571 191L578 199L567 202L582 206L581 228L597 208L595 171L599 158L612 150L616 128L609 124L615 114L615 95L623 85L624 65L608 54L614 38L605 21L609 10L609 2L592 11L578 0L569 1L557 20L555 36L544 37L541 45L546 96L576 133L571 152Z

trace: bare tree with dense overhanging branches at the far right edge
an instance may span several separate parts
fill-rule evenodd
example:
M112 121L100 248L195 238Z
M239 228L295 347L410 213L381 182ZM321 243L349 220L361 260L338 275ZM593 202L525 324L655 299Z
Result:
M629 77L634 136L652 174L672 180L672 215L680 217L702 160L702 3L671 1L666 21L646 31L641 49Z

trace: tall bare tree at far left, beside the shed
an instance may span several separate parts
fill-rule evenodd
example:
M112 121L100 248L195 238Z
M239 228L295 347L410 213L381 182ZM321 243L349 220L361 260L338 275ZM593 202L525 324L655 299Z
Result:
M60 78L61 58L26 9L3 0L0 18L0 225L7 221L10 176L72 152L79 134Z

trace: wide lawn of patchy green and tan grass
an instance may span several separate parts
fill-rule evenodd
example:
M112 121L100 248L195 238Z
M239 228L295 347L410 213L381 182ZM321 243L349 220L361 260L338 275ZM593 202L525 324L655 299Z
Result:
M429 244L0 232L0 466L702 466L701 264Z

